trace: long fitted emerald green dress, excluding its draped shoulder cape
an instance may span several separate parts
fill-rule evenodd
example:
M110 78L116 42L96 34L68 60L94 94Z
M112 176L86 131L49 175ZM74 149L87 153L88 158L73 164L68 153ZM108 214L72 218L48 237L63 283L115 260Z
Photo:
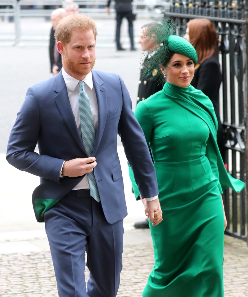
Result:
M142 296L222 297L224 217L209 126L165 90L135 111L152 150L163 211L158 226L150 223L155 264ZM136 189L131 170L130 177Z

